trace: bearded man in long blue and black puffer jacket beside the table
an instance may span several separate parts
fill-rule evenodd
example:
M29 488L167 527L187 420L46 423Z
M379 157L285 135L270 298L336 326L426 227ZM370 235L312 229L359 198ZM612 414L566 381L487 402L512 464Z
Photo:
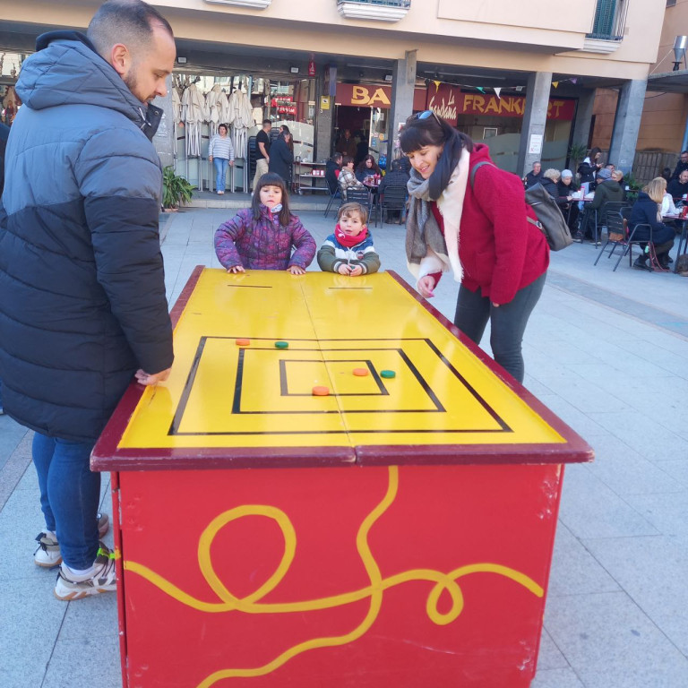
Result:
M133 375L155 384L172 365L150 142L161 111L148 103L166 94L176 48L157 10L111 0L87 36L44 34L37 50L7 145L0 379L5 411L36 431L34 561L62 562L56 597L76 599L115 589L90 452Z

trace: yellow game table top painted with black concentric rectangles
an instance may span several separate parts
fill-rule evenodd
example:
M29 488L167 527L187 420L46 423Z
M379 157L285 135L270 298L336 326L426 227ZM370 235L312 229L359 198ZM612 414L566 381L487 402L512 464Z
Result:
M143 391L117 448L581 448L514 387L390 273L205 269L176 324L168 381Z

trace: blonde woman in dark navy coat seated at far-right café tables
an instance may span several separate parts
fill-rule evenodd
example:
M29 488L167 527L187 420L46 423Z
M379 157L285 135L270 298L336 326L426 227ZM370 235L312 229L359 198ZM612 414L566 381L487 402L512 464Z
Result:
M669 264L669 251L674 245L674 228L667 227L662 222L662 200L667 191L667 180L662 176L656 176L648 185L643 186L638 194L638 200L633 203L631 211L630 229L635 229L633 236L637 241L652 239L654 251L660 267L667 270ZM651 229L650 229L651 228ZM640 270L652 270L648 265L649 244L641 244L642 253L633 262L634 268Z

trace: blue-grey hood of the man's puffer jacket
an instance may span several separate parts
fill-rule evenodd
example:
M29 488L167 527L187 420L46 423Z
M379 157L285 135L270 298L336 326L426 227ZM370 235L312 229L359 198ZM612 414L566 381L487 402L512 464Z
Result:
M22 66L16 90L33 110L59 105L95 105L121 112L138 126L146 119L145 106L122 77L77 31L52 31L36 41L39 52Z

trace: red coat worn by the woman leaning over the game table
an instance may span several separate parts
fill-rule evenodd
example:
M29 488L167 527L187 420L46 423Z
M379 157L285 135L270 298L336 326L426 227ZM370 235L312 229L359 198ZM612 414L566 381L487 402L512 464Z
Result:
M470 154L470 169L483 160L492 162L484 143ZM436 203L431 203L443 230ZM464 287L481 288L495 304L508 304L519 289L528 287L547 270L549 245L542 232L526 219L537 219L526 205L518 176L483 165L474 186L466 185L459 230L459 258Z

